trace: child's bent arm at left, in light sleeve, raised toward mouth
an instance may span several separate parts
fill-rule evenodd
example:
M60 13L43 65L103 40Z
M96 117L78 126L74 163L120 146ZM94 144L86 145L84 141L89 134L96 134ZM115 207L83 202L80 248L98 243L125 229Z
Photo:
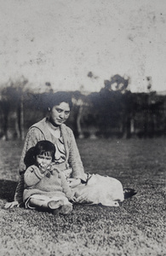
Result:
M30 166L24 174L24 182L29 187L38 183L44 176L37 166Z

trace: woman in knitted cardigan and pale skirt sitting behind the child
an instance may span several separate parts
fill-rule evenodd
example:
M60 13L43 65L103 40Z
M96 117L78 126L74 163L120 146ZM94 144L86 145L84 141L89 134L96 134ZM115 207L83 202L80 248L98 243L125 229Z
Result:
M123 187L117 179L101 177L97 174L85 174L75 137L72 130L64 124L69 118L71 108L72 99L69 93L57 92L50 96L48 117L32 125L27 132L20 158L20 182L15 191L14 202L8 203L6 208L14 207L14 205L19 206L22 202L26 152L42 140L54 143L56 148L54 162L62 172L72 168L72 177L69 179L70 186L76 193L78 203L118 206L117 201L123 201Z

